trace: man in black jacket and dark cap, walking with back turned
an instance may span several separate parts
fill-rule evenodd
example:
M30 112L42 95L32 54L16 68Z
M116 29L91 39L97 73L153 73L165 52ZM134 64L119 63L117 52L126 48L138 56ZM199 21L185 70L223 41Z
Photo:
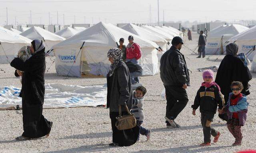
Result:
M186 92L189 84L189 73L184 55L180 53L183 42L180 37L172 39L172 47L166 51L160 60L160 77L166 92L167 128L177 128L174 119L188 103Z

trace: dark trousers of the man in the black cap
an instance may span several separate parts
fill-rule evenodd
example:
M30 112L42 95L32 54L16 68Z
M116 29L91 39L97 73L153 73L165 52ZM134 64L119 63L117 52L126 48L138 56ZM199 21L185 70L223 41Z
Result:
M188 103L188 95L181 86L164 86L166 93L166 117L174 120Z

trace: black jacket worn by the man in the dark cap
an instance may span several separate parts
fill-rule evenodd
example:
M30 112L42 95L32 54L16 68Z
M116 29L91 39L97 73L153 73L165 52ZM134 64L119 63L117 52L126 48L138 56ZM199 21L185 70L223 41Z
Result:
M188 68L184 55L172 46L160 60L160 77L165 86L190 85Z

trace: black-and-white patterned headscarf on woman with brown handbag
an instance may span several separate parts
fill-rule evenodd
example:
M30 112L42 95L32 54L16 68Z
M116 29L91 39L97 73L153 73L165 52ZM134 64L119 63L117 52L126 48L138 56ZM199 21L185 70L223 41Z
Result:
M120 48L111 48L108 51L107 57L110 57L114 60L114 63L110 65L110 71L108 73L108 76L111 77L114 73L114 70L116 69L116 66L120 61L122 61L122 50Z

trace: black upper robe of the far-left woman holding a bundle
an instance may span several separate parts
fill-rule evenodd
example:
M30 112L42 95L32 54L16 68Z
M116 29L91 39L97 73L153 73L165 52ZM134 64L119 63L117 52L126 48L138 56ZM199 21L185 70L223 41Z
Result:
M44 104L44 73L46 68L44 49L25 62L18 57L14 58L11 66L24 72L20 97L25 100L26 104ZM16 71L15 76L19 77Z

